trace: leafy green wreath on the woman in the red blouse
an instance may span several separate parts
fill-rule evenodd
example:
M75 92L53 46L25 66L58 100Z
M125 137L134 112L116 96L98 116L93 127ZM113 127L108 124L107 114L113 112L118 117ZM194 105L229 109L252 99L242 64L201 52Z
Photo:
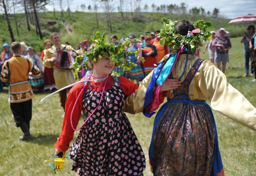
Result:
M130 60L126 59L126 56L132 54L132 51L125 51L125 47L129 46L130 43L139 42L138 39L130 40L127 38L120 44L115 45L114 43L105 41L104 33L101 34L101 32L96 31L92 37L92 41L94 44L91 50L86 51L83 55L76 57L74 64L70 67L71 69L76 70L75 75L77 75L80 68L88 69L90 63L96 63L97 59L108 56L111 57L112 62L115 62L115 67L120 67L123 69L123 71L128 71L137 65L136 63L132 63ZM140 48L136 50L135 57L143 62L144 58L138 55L139 50L143 49ZM84 59L85 57L87 57L87 59ZM112 71L111 75L120 76L120 74L114 70Z

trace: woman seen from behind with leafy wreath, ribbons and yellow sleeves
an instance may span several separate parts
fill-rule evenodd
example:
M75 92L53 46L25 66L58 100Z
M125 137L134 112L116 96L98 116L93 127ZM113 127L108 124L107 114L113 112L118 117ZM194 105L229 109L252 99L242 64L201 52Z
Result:
M256 108L226 80L209 60L194 52L211 35L211 22L163 19L159 34L162 45L172 49L126 99L124 111L143 112L151 117L158 111L149 147L155 176L223 176L216 124L206 100L216 111L256 130ZM177 78L181 86L162 91L166 78ZM174 82L172 82L174 83ZM173 85L171 85L172 87Z

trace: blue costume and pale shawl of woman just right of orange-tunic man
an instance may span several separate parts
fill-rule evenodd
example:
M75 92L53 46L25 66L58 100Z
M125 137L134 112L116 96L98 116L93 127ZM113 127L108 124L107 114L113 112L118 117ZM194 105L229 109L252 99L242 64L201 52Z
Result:
M40 72L43 70L42 63L36 54L33 54L32 56L27 54L27 56L25 56L25 58L31 60L34 63L34 65L36 65L36 67L40 70ZM39 78L29 75L28 82L34 92L39 92L44 89L44 75L43 74L41 74Z

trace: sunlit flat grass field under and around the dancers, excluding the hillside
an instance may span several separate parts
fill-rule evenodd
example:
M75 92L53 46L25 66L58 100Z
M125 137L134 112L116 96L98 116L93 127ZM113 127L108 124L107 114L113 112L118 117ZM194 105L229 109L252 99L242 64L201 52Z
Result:
M230 62L225 74L228 82L256 107L256 82L251 82L251 77L242 77L244 74L243 44L239 41L240 38L231 39ZM202 58L207 59L208 54L202 55ZM63 112L57 94L40 103L40 99L46 95L47 93L35 94L31 121L31 132L34 138L23 142L18 139L22 132L20 128L15 127L7 101L7 88L0 93L0 176L54 175L48 166L48 163L52 162L45 162L45 160L53 159L54 143L61 132ZM226 176L256 176L256 132L221 113L214 111L214 115ZM154 117L146 118L140 113L128 114L128 118L146 154L147 168L144 175L152 176L148 166L148 146ZM64 170L59 175L76 175L70 170L71 164L72 161L66 159Z

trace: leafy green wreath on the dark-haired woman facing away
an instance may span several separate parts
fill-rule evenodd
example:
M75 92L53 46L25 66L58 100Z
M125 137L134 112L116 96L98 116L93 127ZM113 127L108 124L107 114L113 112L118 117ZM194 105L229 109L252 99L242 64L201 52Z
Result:
M210 21L205 22L204 20L197 20L196 22L193 22L192 24L195 29L200 29L200 32L196 35L187 36L181 35L175 31L175 23L178 21L180 20L172 21L171 19L163 18L163 27L158 34L160 44L162 46L168 45L172 50L172 54L175 54L183 44L194 53L197 44L205 42L211 36L211 33L206 31L206 28L212 25Z

